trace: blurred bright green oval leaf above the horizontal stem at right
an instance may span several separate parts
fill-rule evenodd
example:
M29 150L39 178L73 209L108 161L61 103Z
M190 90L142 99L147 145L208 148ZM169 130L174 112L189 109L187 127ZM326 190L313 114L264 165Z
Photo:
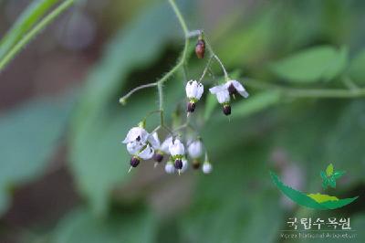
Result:
M339 76L348 64L348 49L322 46L302 50L276 61L270 69L277 77L291 82L315 82Z

